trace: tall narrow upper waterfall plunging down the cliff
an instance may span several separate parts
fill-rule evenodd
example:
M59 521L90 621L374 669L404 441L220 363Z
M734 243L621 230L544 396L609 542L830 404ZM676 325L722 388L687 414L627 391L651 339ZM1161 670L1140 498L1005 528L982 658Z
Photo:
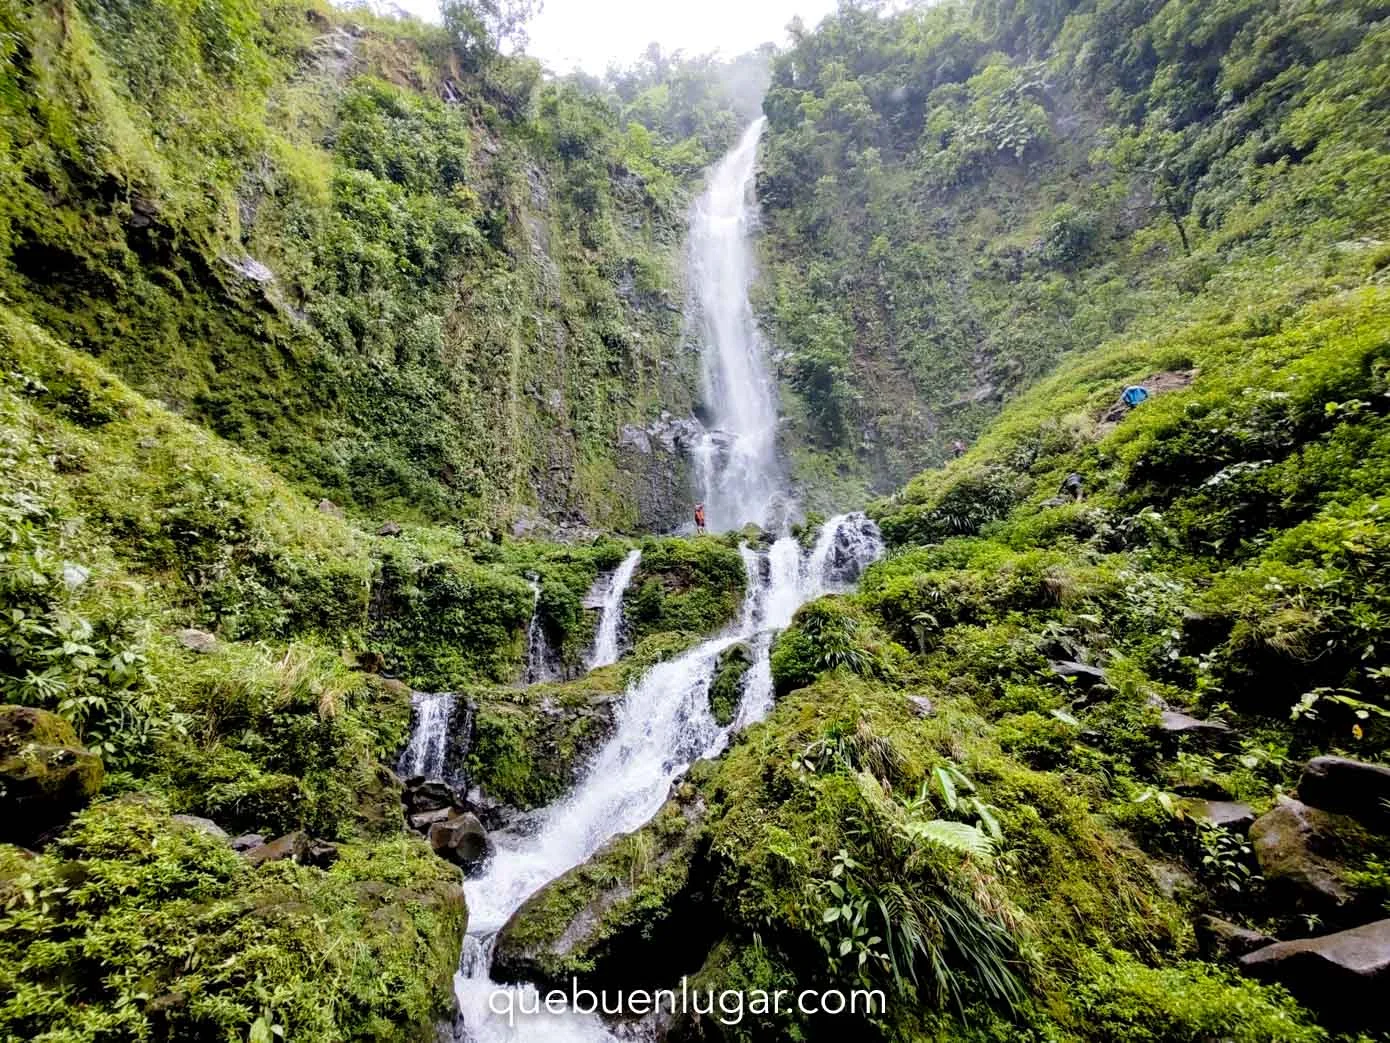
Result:
M784 491L777 458L777 388L748 300L756 267L751 232L758 223L753 174L759 120L709 177L691 211L689 274L701 337L705 409L710 430L694 452L698 495L709 528L749 522L780 528Z

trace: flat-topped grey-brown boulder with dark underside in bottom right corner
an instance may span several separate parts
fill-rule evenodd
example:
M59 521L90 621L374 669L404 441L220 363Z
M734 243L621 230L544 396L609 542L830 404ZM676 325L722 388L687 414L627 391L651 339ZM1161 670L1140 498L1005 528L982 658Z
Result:
M1322 937L1276 941L1241 957L1240 969L1279 982L1330 1026L1384 1028L1390 919Z

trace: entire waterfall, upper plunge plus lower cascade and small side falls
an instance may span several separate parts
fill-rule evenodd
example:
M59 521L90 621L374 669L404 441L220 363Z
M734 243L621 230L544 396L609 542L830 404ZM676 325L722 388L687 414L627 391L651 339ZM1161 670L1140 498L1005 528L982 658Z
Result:
M748 302L753 278L749 235L756 216L752 185L760 134L762 121L748 128L712 171L691 213L691 281L712 420L695 451L695 464L710 528L755 523L783 535L767 549L746 544L739 548L746 587L738 617L723 633L657 663L630 684L612 736L569 795L491 836L492 855L464 884L468 935L455 979L460 1011L455 1035L468 1043L645 1039L641 1024L612 1026L578 1012L525 1014L537 1010L534 986L499 985L491 978L496 935L539 889L582 864L612 837L646 823L666 801L671 783L695 761L717 757L738 730L766 716L773 708L770 652L777 631L808 601L849 590L883 553L877 527L862 513L830 519L809 549L785 534L784 519L778 517L787 484L777 458L777 395ZM606 585L591 591L591 604L600 616L587 661L589 669L619 659L623 595L639 559L639 552L632 551ZM535 608L527 633L525 679L556 680L557 665L539 619L537 577L531 585ZM731 723L721 726L710 712L709 687L720 654L735 642L748 645L752 663L744 674L737 712ZM434 737L441 712L446 731L448 708L417 704L416 736L402 755L403 765L420 768L416 773L428 773L435 747L443 750L445 744ZM506 996L509 990L513 996ZM512 1017L499 1011L512 1011Z

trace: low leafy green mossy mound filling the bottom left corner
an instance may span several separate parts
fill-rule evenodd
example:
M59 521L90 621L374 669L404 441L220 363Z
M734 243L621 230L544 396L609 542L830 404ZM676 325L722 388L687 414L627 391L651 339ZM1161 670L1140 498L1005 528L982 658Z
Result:
M252 869L156 801L93 807L49 852L0 848L0 1025L24 1039L427 1039L466 923L457 871L418 840L329 871Z

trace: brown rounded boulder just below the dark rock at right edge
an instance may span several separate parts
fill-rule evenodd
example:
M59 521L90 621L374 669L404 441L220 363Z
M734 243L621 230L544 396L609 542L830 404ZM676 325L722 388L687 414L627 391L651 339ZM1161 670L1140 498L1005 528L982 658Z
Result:
M1297 912L1327 914L1347 905L1352 889L1337 857L1354 843L1354 819L1280 797L1250 827L1270 898Z

